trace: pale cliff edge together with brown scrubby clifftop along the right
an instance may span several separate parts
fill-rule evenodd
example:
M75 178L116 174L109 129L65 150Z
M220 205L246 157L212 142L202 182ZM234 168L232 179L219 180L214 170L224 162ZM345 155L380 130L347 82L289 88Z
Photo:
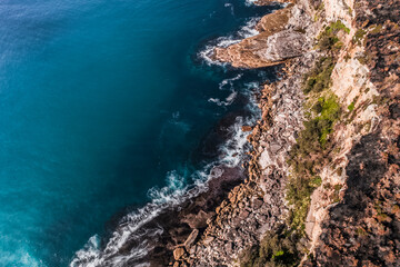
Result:
M343 188L341 200L320 216L319 229L310 230L313 264L399 266L400 1L350 4L353 39L332 73L332 90L353 103L350 123L338 125L334 135L341 145L334 160L342 164L333 167L343 169ZM324 174L334 177L328 168ZM317 212L311 208L309 218Z

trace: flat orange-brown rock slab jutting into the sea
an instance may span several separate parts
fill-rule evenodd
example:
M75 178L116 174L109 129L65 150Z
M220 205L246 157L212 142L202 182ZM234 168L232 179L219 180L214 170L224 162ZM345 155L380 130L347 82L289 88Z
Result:
M259 34L228 48L217 48L214 58L237 68L261 68L301 56L308 50L309 44L303 28L310 22L307 16L302 16L303 12L299 12L298 7L293 7L289 4L264 16L256 27L260 31ZM293 16L301 17L301 23L289 23Z

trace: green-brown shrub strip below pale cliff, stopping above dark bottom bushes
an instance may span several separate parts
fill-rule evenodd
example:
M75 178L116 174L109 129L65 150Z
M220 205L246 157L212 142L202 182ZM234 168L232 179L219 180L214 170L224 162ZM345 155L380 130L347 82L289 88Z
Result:
M322 184L318 174L329 160L332 150L330 134L341 117L338 98L329 90L336 65L334 50L340 43L337 33L341 30L350 32L338 20L328 26L318 38L319 48L328 50L329 56L317 61L314 68L306 76L303 92L309 97L307 106L310 111L306 112L308 119L303 122L304 128L289 154L288 164L292 168L292 177L287 186L287 200L291 205L288 225L300 235L304 234L311 195Z

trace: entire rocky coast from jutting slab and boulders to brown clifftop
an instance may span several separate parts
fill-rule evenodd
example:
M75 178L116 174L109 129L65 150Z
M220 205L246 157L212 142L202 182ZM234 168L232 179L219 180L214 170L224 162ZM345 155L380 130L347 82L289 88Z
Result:
M399 19L398 0L298 0L216 50L284 77L260 89L248 178L170 265L400 266Z

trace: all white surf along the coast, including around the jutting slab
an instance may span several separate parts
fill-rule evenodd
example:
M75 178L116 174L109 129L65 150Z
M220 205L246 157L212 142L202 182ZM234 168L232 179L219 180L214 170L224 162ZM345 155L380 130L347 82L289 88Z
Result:
M258 34L259 32L254 29L254 26L259 19L260 18L252 18L248 20L238 32L210 41L199 51L198 57L207 65L221 65L221 62L212 59L214 48L224 48L244 38ZM224 100L210 98L208 101L214 102L218 106L231 105L239 93L236 90L236 82L240 80L242 76L242 73L239 73L233 78L224 79L220 82L220 90L230 91ZM228 128L229 138L218 148L219 159L207 164L200 170L191 174L190 177L184 177L177 170L169 171L166 176L167 186L162 188L154 187L148 191L148 196L151 199L149 204L126 215L106 245L101 245L101 238L98 235L92 236L84 247L76 253L74 258L70 263L70 267L121 267L128 263L136 263L134 266L149 266L146 263L140 263L140 259L146 257L152 248L149 240L151 240L152 237L161 235L163 229L161 226L151 229L143 226L168 208L179 207L186 200L207 190L207 181L220 177L223 172L223 169L218 168L218 166L237 167L242 161L244 152L249 150L250 145L247 141L247 137L250 132L243 131L242 127L254 125L260 117L259 108L252 92L253 89L259 88L259 83L250 82L242 86L244 90L240 93L246 95L247 99L250 100L246 106L250 115L238 116L234 123ZM172 113L171 122L178 123L179 118L179 112ZM191 185L188 184L189 179L193 181ZM128 243L134 244L134 246L127 248ZM127 249L129 251L127 251ZM121 250L124 253L122 254Z

